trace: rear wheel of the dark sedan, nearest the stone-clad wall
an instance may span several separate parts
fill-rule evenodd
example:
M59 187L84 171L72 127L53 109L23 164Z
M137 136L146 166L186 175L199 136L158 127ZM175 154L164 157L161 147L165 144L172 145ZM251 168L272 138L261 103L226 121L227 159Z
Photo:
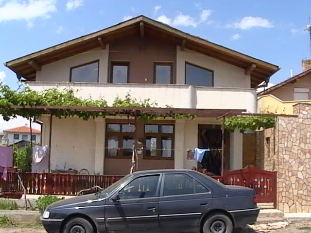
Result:
M208 216L203 225L203 233L232 233L231 219L224 214Z

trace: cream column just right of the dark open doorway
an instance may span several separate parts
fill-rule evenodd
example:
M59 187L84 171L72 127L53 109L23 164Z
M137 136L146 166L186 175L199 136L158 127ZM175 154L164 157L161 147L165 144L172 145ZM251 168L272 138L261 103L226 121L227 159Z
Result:
M243 134L239 129L230 133L230 170L243 168Z

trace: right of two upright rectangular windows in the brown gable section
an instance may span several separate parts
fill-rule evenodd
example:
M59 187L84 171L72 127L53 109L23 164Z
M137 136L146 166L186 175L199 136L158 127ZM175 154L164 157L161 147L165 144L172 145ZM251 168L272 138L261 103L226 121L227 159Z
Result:
M155 63L154 83L173 83L173 63Z

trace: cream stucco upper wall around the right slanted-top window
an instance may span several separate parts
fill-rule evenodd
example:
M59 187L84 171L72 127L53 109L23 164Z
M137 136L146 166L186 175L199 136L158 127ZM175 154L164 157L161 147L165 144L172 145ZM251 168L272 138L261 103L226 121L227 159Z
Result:
M250 75L245 75L245 69L235 67L215 58L188 49L180 50L177 46L176 57L177 83L185 84L185 63L191 63L214 71L215 87L250 88Z

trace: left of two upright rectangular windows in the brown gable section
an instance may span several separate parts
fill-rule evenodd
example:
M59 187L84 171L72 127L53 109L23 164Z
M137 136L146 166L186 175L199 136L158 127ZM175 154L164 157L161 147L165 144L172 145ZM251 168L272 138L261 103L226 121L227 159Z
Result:
M129 83L129 62L111 62L109 83Z

